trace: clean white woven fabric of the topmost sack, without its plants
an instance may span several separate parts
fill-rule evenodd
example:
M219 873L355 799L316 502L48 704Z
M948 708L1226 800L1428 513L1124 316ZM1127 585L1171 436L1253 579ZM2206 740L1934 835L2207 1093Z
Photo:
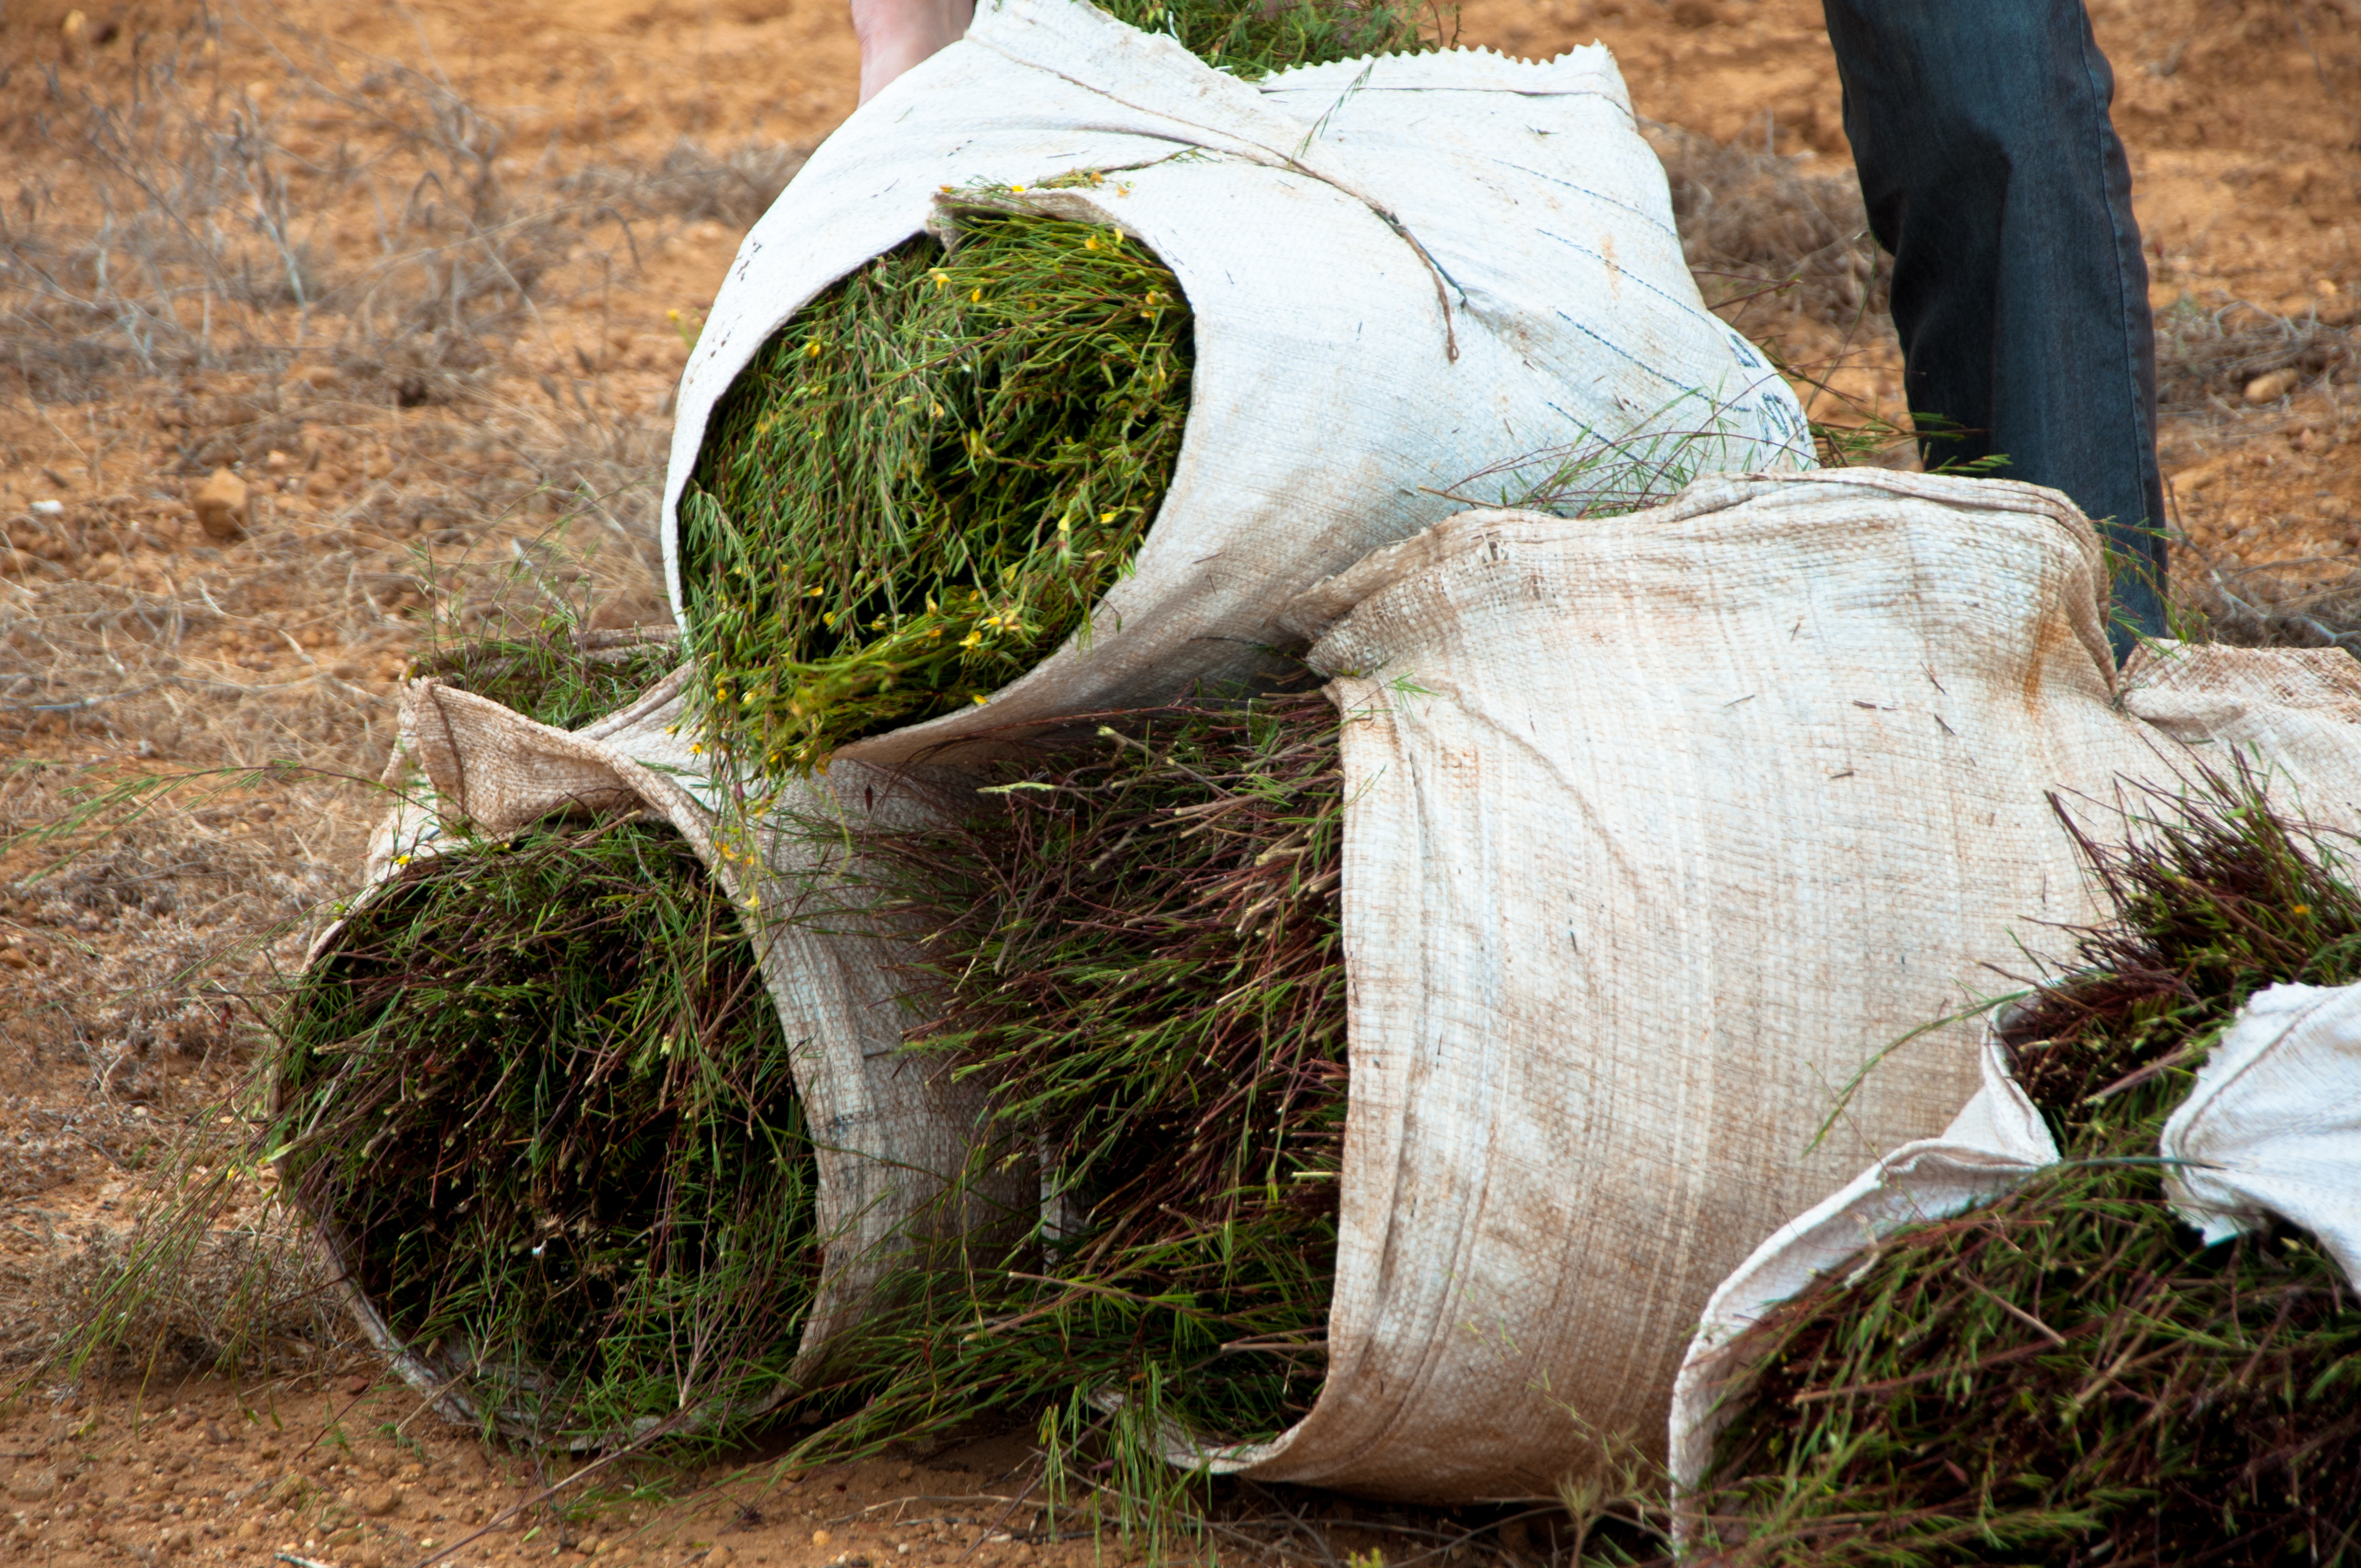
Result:
M1074 170L1100 187L1039 189ZM1809 465L1801 411L1698 298L1603 47L1384 57L1242 83L1077 0L982 0L753 227L680 383L663 560L715 399L812 295L959 224L959 189L1114 224L1195 312L1188 435L1136 571L989 708L841 756L1150 706L1249 668L1287 595L1459 510L1433 491L1587 435L1700 430Z

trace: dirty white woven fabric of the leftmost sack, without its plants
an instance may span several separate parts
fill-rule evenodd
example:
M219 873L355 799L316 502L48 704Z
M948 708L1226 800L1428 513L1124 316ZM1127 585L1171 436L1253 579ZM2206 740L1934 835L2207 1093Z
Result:
M411 682L401 694L401 744L387 782L404 784L416 770L425 786L406 789L378 827L366 888L354 904L387 888L408 862L460 843L460 822L498 838L552 812L640 812L680 831L741 907L772 1006L798 1046L796 1093L819 1169L822 1237L819 1285L791 1367L791 1379L805 1381L824 1370L831 1341L859 1325L881 1278L909 1244L1022 1216L1034 1193L1011 1178L970 1185L966 1207L942 1202L949 1181L966 1169L980 1100L947 1074L900 1056L897 997L907 982L890 973L904 956L897 942L772 919L815 895L833 895L833 848L826 836L774 831L763 822L748 827L746 812L727 810L701 753L682 734L682 692L692 678L694 666L682 666L630 706L574 732L434 680ZM859 763L786 784L779 798L781 815L876 827L914 827L933 810L923 779ZM342 921L323 930L312 956L331 952L340 930ZM345 1256L333 1216L319 1235L331 1256ZM354 1285L342 1282L342 1292L364 1334L411 1386L456 1422L482 1419L449 1367L404 1346ZM543 1436L522 1417L491 1415L515 1436ZM614 1436L630 1433L604 1433Z

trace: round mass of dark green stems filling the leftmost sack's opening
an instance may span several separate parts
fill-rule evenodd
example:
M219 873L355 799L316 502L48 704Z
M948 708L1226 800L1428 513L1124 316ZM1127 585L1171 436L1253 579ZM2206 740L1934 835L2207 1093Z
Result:
M753 942L671 827L406 864L279 1030L281 1188L486 1426L711 1433L789 1391L817 1167Z

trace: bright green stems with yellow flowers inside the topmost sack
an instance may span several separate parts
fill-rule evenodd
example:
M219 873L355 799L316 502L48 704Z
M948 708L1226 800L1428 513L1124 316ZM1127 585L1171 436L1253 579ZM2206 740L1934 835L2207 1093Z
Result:
M989 194L977 194L987 201ZM807 772L1084 628L1180 453L1180 286L1138 241L966 213L841 279L713 411L680 503L715 739Z

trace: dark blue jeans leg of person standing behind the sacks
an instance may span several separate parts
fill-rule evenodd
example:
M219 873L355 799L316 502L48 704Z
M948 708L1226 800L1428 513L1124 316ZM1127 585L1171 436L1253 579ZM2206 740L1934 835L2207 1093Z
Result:
M2115 76L2082 0L1825 0L1929 468L2004 453L2115 553L2115 652L2165 631L2156 324Z

